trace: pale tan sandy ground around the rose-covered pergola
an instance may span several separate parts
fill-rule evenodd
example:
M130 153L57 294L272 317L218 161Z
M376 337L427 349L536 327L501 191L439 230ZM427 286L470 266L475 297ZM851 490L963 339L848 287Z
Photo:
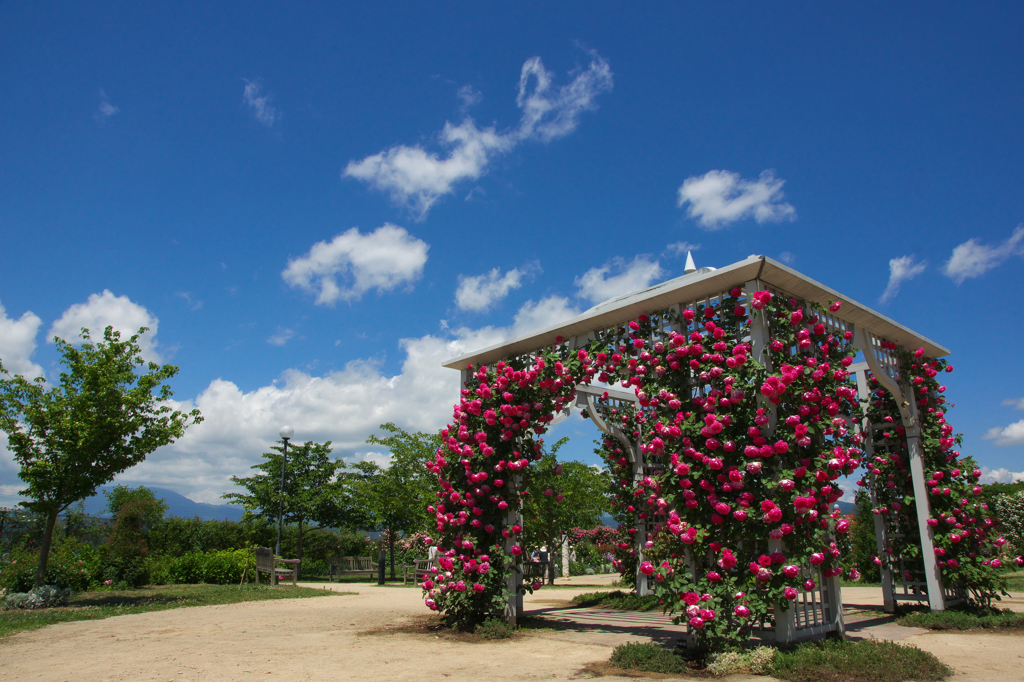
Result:
M586 582L601 585L593 577ZM477 643L422 629L409 632L402 628L409 630L426 612L419 590L330 587L359 594L179 608L11 635L0 642L0 682L479 682L590 679L596 671L604 672L606 679L617 678L596 665L607 662L612 642L606 638L567 641L541 631ZM594 589L542 590L527 598L526 608L567 605L564 600ZM869 588L844 591L844 596L865 606L874 601ZM1024 595L1015 596L1018 608L1024 609ZM630 639L625 633L623 637ZM955 682L1024 680L1020 635L927 633L902 641L932 651L955 669Z

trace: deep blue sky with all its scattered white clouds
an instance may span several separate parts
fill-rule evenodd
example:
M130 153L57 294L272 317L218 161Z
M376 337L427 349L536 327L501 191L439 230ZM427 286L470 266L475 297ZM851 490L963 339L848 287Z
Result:
M51 333L154 327L207 421L121 479L216 502L281 423L349 459L443 425L441 360L679 275L688 244L951 348L963 450L1009 479L1022 13L5 2L0 357L52 376Z

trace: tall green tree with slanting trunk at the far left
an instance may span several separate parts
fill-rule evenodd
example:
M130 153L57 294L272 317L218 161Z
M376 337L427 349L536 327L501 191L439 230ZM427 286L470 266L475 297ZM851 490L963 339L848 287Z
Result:
M168 404L172 392L164 382L178 368L142 360L138 337L146 331L122 341L108 327L93 343L83 329L80 348L54 338L66 371L49 389L43 377L0 380L0 430L29 485L20 494L31 501L20 504L46 517L35 587L46 574L60 512L203 420L199 410L186 414Z

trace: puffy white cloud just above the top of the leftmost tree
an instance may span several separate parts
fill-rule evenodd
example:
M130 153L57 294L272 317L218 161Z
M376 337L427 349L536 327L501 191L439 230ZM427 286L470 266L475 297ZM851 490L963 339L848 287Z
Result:
M121 332L121 339L126 340L146 327L138 345L142 357L146 361L161 363L162 357L157 350L157 328L160 321L144 306L133 303L127 296L115 296L109 289L102 294L91 294L85 303L76 303L63 311L60 318L53 323L47 334L47 341L53 342L54 336L65 341L76 342L82 328L89 330L89 336L95 343L103 338L103 330L113 327L115 332Z

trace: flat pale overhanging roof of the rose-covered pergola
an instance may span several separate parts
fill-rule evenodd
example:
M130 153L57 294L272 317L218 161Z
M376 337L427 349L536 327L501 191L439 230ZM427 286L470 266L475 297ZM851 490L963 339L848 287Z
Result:
M444 363L444 367L464 370L487 365L506 357L532 352L555 343L556 337L565 339L586 336L590 332L604 330L615 325L636 319L638 315L664 310L677 303L699 300L708 296L741 285L752 280L760 280L768 286L778 288L804 300L827 305L829 300L842 300L843 309L839 316L855 326L873 332L906 348L924 348L929 357L948 355L949 349L921 336L894 319L858 303L835 289L824 286L792 267L765 256L750 256L717 270L705 268L669 280L646 289L598 303L583 314L571 319L530 332L509 341L465 353Z

